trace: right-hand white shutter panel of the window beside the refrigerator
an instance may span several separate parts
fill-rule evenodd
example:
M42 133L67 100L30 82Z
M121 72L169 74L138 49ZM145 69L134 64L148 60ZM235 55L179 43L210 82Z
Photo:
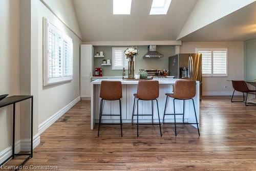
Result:
M216 76L226 76L227 75L227 51L218 50L213 51L213 74Z

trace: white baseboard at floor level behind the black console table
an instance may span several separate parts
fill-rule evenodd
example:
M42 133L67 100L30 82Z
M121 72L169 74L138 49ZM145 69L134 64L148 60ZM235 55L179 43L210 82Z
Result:
M33 149L39 145L40 135L36 134L33 137ZM19 152L30 152L30 139L21 139L15 142L15 154ZM9 156L12 155L12 146L5 148L0 152L0 163L4 162Z

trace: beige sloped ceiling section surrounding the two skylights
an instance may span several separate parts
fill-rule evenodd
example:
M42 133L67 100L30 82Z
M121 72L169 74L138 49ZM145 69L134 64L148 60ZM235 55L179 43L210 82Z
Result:
M113 0L73 0L84 41L176 40L197 0L172 0L167 15L149 15L152 0L133 0L131 15L113 15Z

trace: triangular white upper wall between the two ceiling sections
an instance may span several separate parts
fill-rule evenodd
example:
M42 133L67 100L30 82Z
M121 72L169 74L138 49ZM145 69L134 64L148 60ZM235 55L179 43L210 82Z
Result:
M198 0L177 39L254 2L255 0Z

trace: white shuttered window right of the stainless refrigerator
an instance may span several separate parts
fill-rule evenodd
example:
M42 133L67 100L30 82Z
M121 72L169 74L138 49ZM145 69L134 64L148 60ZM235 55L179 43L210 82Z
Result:
M196 49L202 53L203 76L227 76L227 49Z

